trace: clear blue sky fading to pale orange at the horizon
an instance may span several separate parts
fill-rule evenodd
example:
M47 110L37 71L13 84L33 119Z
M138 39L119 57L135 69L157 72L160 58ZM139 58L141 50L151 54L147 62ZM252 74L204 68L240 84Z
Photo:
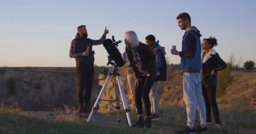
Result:
M0 0L0 67L75 67L69 46L77 26L86 25L88 38L99 39L105 26L107 38L124 40L133 30L139 40L153 34L165 46L173 64L180 58L170 52L181 50L184 31L176 16L187 12L203 38L215 36L215 48L228 62L256 61L255 0ZM125 49L124 41L119 45ZM107 51L93 46L95 64L107 64Z

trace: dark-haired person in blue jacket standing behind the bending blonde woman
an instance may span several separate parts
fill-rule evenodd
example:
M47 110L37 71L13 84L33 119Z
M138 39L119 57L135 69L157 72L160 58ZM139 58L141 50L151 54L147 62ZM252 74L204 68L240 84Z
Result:
M152 120L159 120L159 98L157 93L157 81L166 81L166 72L167 72L167 64L165 59L165 47L160 46L158 43L159 41L155 41L155 36L148 35L146 38L146 44L150 47L150 49L155 54L155 60L157 62L158 71L160 75L154 78L154 83L152 88L149 92L149 98L151 101L151 119Z

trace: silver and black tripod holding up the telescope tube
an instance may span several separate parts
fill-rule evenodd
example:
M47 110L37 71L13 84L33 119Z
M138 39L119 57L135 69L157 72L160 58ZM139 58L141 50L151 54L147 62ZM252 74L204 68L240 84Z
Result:
M96 110L96 107L98 106L99 104L99 101L109 101L109 100L101 100L101 95L103 94L106 86L107 86L107 82L109 81L111 75L113 75L113 79L114 79L114 87L115 87L115 101L110 101L110 102L116 102L116 109L117 109L117 120L118 122L120 123L120 94L121 94L121 98L122 98L122 101L123 101L123 106L125 108L125 113L126 113L126 116L127 116L127 120L128 120L128 124L129 126L132 126L131 124L131 119L130 119L130 114L129 114L129 111L130 109L128 109L128 105L127 105L127 102L126 102L126 98L125 98L125 93L124 93L124 90L123 90L123 84L121 82L121 77L120 77L120 74L117 72L118 71L118 68L117 68L117 65L115 64L115 62L112 62L112 59L108 56L109 58L109 62L107 64L107 66L109 64L112 64L112 68L113 68L113 71L109 73L109 75L107 76L107 79L105 80L104 82L104 85L103 87L101 88L101 91L99 93L99 96L92 108L92 111L90 113L90 116L88 117L87 119L87 122L89 122L93 116L93 112ZM103 69L103 74L107 74L107 67ZM116 78L116 79L115 79ZM117 80L117 83L116 83L116 80ZM118 84L118 86L117 86ZM118 90L119 89L119 90Z

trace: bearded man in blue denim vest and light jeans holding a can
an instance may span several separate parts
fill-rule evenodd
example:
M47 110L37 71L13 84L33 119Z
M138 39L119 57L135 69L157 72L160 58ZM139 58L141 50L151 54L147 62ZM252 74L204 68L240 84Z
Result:
M181 57L183 99L187 109L187 126L175 132L195 134L196 131L205 134L208 133L208 129L200 75L202 69L201 34L195 26L191 26L191 18L188 13L179 14L177 20L181 30L185 30L182 39L182 50L179 52L176 49L171 49L171 53ZM196 107L200 115L200 125L195 128Z

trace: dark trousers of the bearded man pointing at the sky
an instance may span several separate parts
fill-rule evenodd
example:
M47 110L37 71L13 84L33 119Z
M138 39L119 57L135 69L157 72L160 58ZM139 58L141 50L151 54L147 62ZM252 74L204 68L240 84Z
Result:
M77 102L78 105L91 102L91 89L94 78L93 64L78 64L77 71ZM84 92L85 90L85 92Z

